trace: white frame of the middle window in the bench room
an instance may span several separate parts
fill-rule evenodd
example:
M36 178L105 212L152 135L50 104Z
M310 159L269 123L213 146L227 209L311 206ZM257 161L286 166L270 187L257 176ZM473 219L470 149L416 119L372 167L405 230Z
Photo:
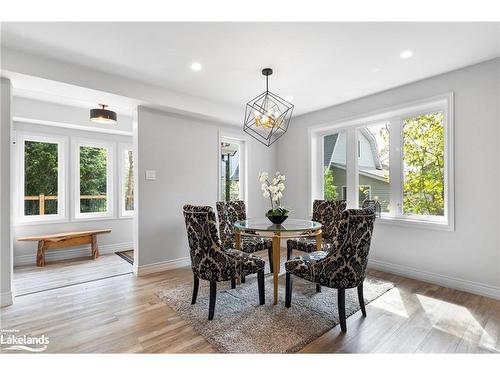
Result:
M80 147L99 147L107 149L108 163L106 165L107 181L106 181L106 196L107 196L107 211L106 212L80 212ZM73 220L100 220L110 219L114 217L114 143L105 142L96 139L73 138L71 148L73 150L73 166L72 181L73 181Z

